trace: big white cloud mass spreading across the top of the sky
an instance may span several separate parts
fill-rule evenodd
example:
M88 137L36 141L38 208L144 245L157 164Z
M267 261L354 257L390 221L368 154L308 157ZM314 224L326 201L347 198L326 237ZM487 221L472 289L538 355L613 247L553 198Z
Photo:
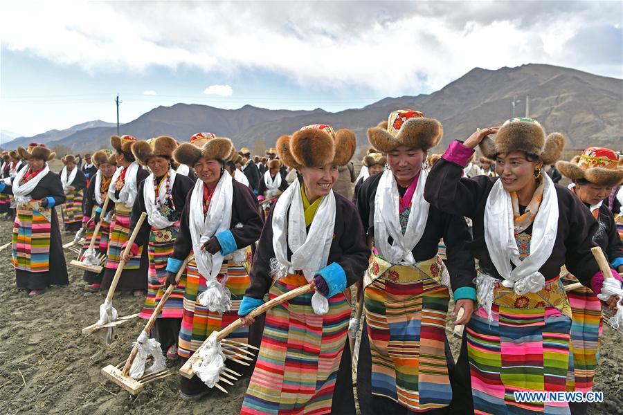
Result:
M476 66L535 62L620 77L617 45L604 47L603 62L578 59L572 34L620 33L621 16L622 4L608 1L12 1L0 6L0 38L89 73L185 66L229 80L257 70L309 89L395 95L438 89Z

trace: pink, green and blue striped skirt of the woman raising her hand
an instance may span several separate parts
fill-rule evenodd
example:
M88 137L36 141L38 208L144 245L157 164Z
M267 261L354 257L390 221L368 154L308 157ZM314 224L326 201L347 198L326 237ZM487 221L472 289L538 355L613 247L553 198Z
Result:
M517 391L565 391L571 308L559 279L516 295L496 284L493 321L478 306L467 324L475 414L569 414L568 403L520 403Z

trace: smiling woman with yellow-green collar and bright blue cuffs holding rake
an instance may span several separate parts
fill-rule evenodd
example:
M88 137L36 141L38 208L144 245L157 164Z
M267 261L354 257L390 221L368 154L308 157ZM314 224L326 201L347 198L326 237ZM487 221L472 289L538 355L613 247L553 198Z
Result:
M273 298L308 283L316 293L267 312L241 414L355 413L350 350L344 347L347 298L368 265L368 248L354 206L332 190L337 166L350 160L355 145L351 131L334 134L329 126L277 141L281 160L296 167L303 183L295 180L271 210L238 314L248 315L267 293ZM312 305L316 301L320 307Z

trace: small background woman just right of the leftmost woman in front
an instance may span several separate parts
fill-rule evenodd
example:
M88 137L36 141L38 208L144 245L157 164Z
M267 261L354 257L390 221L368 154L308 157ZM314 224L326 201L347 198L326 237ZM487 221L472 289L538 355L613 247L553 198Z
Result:
M82 227L82 189L87 187L87 178L75 165L75 157L67 154L62 158L61 182L66 201L62 206L65 232L77 232Z

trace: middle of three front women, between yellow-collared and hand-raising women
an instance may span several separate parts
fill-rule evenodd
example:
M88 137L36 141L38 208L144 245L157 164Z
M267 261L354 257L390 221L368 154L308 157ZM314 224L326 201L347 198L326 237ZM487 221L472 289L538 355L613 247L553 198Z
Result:
M462 216L424 200L424 160L442 134L440 122L413 110L394 111L388 122L368 129L389 169L370 176L357 199L373 247L363 279L367 323L357 369L363 414L453 413L454 360L445 334L449 288L454 316L464 311L455 324L464 324L476 300L476 272ZM442 238L445 265L437 252Z

